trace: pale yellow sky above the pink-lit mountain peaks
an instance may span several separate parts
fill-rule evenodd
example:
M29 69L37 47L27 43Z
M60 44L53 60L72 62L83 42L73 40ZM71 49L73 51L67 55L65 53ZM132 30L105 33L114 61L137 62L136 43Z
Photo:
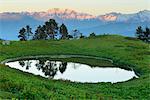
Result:
M0 12L38 12L51 8L68 8L93 15L135 13L150 10L150 0L0 0Z

